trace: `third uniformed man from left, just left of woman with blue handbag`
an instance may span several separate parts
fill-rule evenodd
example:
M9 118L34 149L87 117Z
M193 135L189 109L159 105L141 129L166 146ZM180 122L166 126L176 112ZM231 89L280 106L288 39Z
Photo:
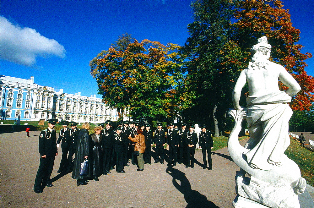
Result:
M71 121L70 142L69 142L69 156L67 172L73 171L73 155L75 154L76 144L78 140L78 133L80 129L77 128L78 123Z

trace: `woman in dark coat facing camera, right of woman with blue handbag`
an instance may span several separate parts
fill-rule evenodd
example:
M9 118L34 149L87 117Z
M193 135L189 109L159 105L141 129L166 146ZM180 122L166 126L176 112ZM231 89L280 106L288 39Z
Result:
M94 134L91 134L91 151L93 152L93 177L95 181L99 181L98 177L102 174L102 134L101 127L95 126Z

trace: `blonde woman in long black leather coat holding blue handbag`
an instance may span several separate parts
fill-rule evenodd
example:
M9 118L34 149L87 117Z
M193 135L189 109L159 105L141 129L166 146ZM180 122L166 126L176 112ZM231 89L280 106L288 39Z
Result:
M93 173L91 171L88 172L88 174L80 176L79 172L81 169L81 163L85 159L89 159L90 155L90 137L88 130L90 129L89 123L83 123L82 129L78 133L78 140L75 150L75 159L74 159L74 166L73 166L73 172L72 172L72 178L77 179L76 185L86 185L87 178L92 177ZM89 164L90 165L90 164Z

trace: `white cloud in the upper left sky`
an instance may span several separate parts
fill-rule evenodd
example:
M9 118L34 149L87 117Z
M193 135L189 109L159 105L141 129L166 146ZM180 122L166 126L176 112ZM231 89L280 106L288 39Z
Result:
M24 66L35 66L36 57L65 57L65 49L54 39L42 36L34 29L14 25L0 16L0 57Z

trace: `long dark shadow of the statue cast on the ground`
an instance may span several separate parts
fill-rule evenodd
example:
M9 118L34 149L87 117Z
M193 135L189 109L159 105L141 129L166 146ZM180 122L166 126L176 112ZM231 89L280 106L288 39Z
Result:
M208 201L206 196L191 189L191 184L184 172L168 166L166 172L172 176L172 183L183 195L187 202L186 208L219 208L213 202ZM180 184L177 182L180 181Z

